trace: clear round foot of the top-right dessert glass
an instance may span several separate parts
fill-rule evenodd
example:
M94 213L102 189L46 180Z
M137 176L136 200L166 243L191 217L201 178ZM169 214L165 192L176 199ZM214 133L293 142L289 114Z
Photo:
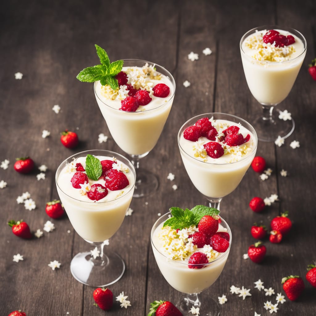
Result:
M289 137L295 128L294 120L279 119L280 110L273 109L270 119L264 120L262 117L254 117L250 120L255 129L258 140L262 142L274 142L278 136Z

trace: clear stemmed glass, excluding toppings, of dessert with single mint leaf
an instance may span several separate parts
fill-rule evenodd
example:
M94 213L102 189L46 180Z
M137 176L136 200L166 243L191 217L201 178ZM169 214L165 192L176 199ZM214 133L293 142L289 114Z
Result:
M124 194L117 191L116 198L106 202L79 200L69 195L64 178L61 177L74 158L86 157L88 154L97 157L115 157L129 169L129 185ZM93 248L92 252L79 252L71 260L70 270L79 282L94 286L107 286L118 281L125 271L123 259L112 251L104 252L105 241L112 237L121 226L128 210L135 187L135 169L132 163L109 150L88 150L65 159L56 171L56 186L59 198L76 232ZM71 184L70 184L71 185ZM113 191L116 192L116 191Z

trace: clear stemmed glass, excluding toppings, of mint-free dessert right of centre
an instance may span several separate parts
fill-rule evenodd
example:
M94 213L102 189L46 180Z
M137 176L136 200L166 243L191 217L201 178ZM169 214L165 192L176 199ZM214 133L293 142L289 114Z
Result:
M249 140L250 150L248 153L238 160L227 162L225 159L210 159L203 161L193 154L192 146L194 142L185 140L183 137L184 130L195 124L198 119L213 118L214 120L223 120L234 125L240 124L247 129L247 133L251 135ZM210 142L205 138L205 143ZM180 128L178 133L178 145L182 161L186 172L188 173L193 185L206 196L210 207L220 209L222 198L236 189L241 179L249 168L257 150L258 138L254 128L245 120L225 113L206 113L197 115L186 121Z

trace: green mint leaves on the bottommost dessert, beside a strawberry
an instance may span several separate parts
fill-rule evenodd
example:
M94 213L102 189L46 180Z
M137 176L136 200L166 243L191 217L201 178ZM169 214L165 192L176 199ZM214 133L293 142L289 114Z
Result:
M219 214L219 210L204 205L197 205L192 210L171 207L170 212L172 217L164 222L163 227L170 226L173 229L188 228L192 225L197 226L204 215L215 216Z

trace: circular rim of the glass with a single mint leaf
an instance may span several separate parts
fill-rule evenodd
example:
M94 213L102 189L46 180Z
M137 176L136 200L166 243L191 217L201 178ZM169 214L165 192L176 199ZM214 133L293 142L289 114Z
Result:
M82 157L82 156L84 156L84 155L88 155L89 153L90 153L90 155L93 155L93 154L91 154L91 152L94 152L94 151L102 151L102 152L110 153L110 154L113 154L112 156L114 156L114 157L115 157L115 156L119 156L121 159L123 158L123 159L125 159L125 160L128 161L128 163L129 163L129 166L128 166L128 167L130 167L130 169L131 169L131 171L132 171L132 173L133 173L133 175L134 175L134 184L131 186L131 188L130 188L124 195L121 195L120 197L118 197L118 198L116 198L116 199L114 199L114 200L105 201L105 202L98 202L98 201L95 201L95 200L82 201L82 200L78 200L78 199L76 199L75 197L72 197L72 196L70 196L69 194L65 193L64 190L62 190L61 187L58 185L57 174L58 174L58 172L59 172L59 174L60 174L60 171L62 170L61 166L62 166L64 163L66 163L67 160L73 159L73 158L75 158L75 156L78 156L78 155L80 155L80 157ZM94 155L94 156L96 156L96 155ZM111 156L111 155L109 155L109 156ZM79 158L79 156L78 156L78 158ZM124 162L124 161L123 161L123 162ZM124 162L124 163L126 164L126 162ZM59 174L58 174L58 176L59 176ZM115 202L115 201L119 201L122 197L124 197L125 195L127 195L127 194L134 188L134 186L135 186L135 183L136 183L136 171L135 171L135 168L134 168L133 164L131 163L131 161L129 161L126 157L124 157L123 155L120 155L119 153L116 153L116 152L114 152L114 151L107 150L107 149L90 149L90 150L85 150L85 151L81 151L81 152L79 152L79 153L73 154L73 155L69 156L68 158L64 159L64 160L60 163L60 165L58 166L58 168L57 168L57 170L56 170L56 173L55 173L55 183L56 183L56 186L59 188L59 190L62 191L62 192L63 192L67 197L69 197L70 199L72 199L72 200L74 200L74 201L78 201L78 202L80 202L80 203L98 204L98 205L100 206L100 205L102 205L102 204L110 204L110 203L113 203L113 202Z

